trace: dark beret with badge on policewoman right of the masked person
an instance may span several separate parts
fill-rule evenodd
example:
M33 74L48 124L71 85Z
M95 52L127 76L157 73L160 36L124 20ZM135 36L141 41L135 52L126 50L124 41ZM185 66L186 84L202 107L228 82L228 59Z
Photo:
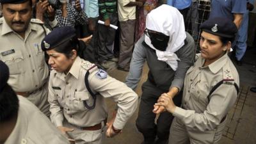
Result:
M212 17L201 24L200 29L213 35L234 38L237 33L236 24L224 17Z

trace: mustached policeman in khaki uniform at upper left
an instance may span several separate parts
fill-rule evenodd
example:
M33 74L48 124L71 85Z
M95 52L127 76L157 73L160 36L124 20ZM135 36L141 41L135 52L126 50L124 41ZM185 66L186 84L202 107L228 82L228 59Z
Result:
M1 0L1 4L0 60L10 68L8 84L49 116L49 70L40 46L49 29L42 21L31 19L31 0Z

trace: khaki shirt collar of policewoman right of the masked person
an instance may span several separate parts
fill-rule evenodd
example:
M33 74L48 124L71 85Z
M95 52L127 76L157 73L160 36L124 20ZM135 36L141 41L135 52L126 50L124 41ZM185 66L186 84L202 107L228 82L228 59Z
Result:
M221 58L214 61L207 67L209 67L209 69L211 70L212 73L216 74L227 63L227 60L228 60L228 52L226 52L226 54L221 56ZM204 65L204 61L205 61L205 59L202 59L201 67L202 67L202 65Z

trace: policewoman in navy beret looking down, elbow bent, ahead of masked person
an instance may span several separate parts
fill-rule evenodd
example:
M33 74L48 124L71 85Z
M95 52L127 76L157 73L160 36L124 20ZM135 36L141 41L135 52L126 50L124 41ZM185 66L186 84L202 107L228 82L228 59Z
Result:
M111 97L117 102L118 112L106 135L118 134L136 109L136 93L77 56L74 28L54 29L42 40L42 49L49 55L52 68L48 97L51 120L60 131L76 143L101 143L108 114L104 97Z

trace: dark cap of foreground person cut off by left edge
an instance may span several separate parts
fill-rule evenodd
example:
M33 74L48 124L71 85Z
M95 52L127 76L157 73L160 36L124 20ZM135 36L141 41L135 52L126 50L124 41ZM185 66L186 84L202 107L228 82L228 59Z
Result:
M3 61L0 60L0 92L2 92L8 79L9 79L9 68Z

